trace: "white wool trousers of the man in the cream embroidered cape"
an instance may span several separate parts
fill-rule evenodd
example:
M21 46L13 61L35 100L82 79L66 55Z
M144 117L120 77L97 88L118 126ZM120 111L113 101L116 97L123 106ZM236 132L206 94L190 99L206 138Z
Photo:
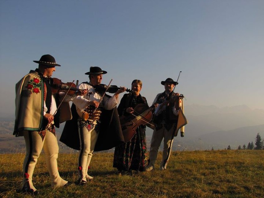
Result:
M46 130L46 135L42 140L42 136L38 131L25 130L23 133L26 143L26 156L23 164L23 187L28 187L28 184L26 183L26 180L28 179L29 188L33 189L33 191L37 190L32 183L32 177L42 148L44 150L46 166L51 178L51 187L64 186L66 183L68 183L59 176L57 165L59 146L55 134L51 133L49 130ZM28 174L27 179L25 173Z

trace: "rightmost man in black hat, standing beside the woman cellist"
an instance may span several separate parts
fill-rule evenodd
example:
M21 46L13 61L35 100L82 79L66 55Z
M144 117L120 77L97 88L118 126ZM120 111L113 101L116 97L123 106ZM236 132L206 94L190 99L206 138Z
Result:
M173 81L171 78L167 78L165 81L161 81L161 85L164 85L165 91L163 93L159 93L154 99L153 104L157 105L157 108L154 112L154 123L156 127L152 134L151 145L149 150L149 164L146 168L146 171L151 171L154 168L158 149L161 145L161 141L164 138L164 146L162 152L162 161L160 164L160 169L164 170L166 166L164 166L164 162L168 156L168 148L173 141L171 138L176 127L178 120L178 110L181 107L181 100L177 97L179 94L174 93L174 86L177 85L178 82ZM162 97L165 100L157 104Z

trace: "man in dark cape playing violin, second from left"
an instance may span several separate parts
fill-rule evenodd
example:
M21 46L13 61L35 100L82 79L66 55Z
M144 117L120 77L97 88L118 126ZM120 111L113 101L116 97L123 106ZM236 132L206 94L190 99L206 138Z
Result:
M101 84L103 79L103 74L106 74L106 71L103 71L99 67L90 67L90 71L85 73L86 75L89 75L89 82L83 82L80 85L77 86L77 88L82 90L88 90L87 94L83 95L82 97L89 101L89 106L85 109L78 108L79 102L82 103L79 99L74 99L73 103L76 105L76 111L78 113L77 118L77 133L76 134L76 128L69 129L74 125L73 120L67 121L66 125L64 127L62 136L60 141L68 145L69 147L75 148L77 150L80 150L79 153L79 159L78 159L78 173L79 173L79 179L78 183L80 185L84 185L87 183L87 181L91 180L93 177L88 175L88 167L93 155L93 152L96 151L96 143L99 141L100 138L98 138L100 135L102 135L102 130L108 130L108 134L111 134L109 131L113 128L109 123L107 125L103 124L101 120L101 114L103 115L103 112L105 110L113 110L116 109L119 94L124 92L126 90L125 87L121 87L118 89L115 94L111 97L108 95L104 95L102 92L98 92L96 90L96 85ZM103 97L103 98L102 98ZM72 112L74 111L72 106ZM112 116L111 117L112 120ZM117 117L118 118L118 117ZM71 124L72 123L72 124ZM118 127L120 127L120 122L118 120ZM104 128L103 127L108 127ZM121 130L119 131L121 134ZM74 138L71 136L73 134L76 134L78 136L78 145L74 145ZM68 142L68 139L71 139L70 142ZM111 139L108 139L109 142L112 142ZM100 143L100 146L103 143ZM113 146L114 147L114 146ZM110 147L112 148L112 147ZM110 149L108 148L108 149ZM103 149L107 150L107 149Z

